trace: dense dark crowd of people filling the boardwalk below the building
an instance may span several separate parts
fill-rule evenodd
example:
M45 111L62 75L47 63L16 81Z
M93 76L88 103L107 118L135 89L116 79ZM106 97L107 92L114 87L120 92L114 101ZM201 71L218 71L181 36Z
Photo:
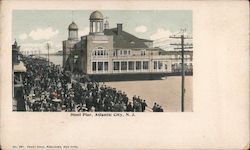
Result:
M81 76L71 79L69 72L45 59L24 57L27 71L23 76L26 111L99 111L144 112L146 100L134 96L130 101L125 92ZM155 104L153 112L163 109Z

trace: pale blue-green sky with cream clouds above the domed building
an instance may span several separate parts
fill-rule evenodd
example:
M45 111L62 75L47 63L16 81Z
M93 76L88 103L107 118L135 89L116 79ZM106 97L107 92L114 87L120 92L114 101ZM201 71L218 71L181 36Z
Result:
M68 26L74 21L79 28L78 35L89 33L89 16L94 10L13 10L12 41L16 39L21 51L62 50L62 41L68 38ZM109 27L123 24L123 30L139 38L154 40L154 46L168 49L169 36L192 35L191 10L101 10L108 18ZM167 45L167 46L166 46Z

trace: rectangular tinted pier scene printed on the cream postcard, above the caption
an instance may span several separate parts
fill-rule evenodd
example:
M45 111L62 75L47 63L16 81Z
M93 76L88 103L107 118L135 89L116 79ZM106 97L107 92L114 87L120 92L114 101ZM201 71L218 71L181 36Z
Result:
M192 112L191 10L13 10L12 21L13 111Z

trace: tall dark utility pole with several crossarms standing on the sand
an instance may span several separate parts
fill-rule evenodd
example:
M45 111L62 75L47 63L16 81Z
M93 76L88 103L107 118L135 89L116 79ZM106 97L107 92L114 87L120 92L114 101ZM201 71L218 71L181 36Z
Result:
M185 31L185 29L184 29ZM185 49L192 49L193 44L185 44L185 39L192 39L192 37L185 37L184 33L181 36L170 36L169 38L181 39L181 43L171 43L170 45L181 46L174 49L181 49L181 112L184 112L185 104L185 65L184 65L184 52Z

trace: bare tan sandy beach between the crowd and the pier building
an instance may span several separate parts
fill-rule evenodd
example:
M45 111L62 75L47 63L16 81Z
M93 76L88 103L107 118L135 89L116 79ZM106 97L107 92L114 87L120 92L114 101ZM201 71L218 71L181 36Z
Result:
M192 111L193 77L188 76L185 81L185 111ZM147 100L149 106L153 106L154 102L157 102L162 105L164 111L180 111L180 76L168 77L165 80L106 82L105 84L125 91L129 97L140 95L141 98Z

